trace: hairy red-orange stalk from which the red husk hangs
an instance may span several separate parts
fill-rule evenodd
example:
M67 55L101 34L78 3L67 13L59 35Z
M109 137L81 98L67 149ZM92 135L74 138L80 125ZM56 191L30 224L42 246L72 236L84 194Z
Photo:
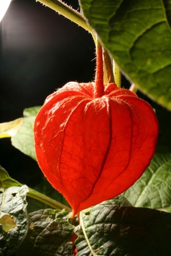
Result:
M102 47L97 40L96 43L96 76L95 76L95 98L104 95L104 84L103 84L103 52Z

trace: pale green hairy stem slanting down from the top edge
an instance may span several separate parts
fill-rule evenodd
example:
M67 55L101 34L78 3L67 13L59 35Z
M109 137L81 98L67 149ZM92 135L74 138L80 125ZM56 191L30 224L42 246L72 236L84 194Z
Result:
M66 3L63 3L60 0L36 0L36 2L40 2L43 5L48 6L52 10L57 11L59 14L62 14L64 17L70 19L70 21L73 21L77 25L83 27L83 29L92 34L94 41L96 41L95 34L91 27L87 24L83 15L72 9L70 6L66 5Z

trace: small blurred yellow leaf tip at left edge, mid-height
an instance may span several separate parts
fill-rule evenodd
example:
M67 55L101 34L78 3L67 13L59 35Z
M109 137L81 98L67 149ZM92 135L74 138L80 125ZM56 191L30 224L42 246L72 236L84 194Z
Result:
M0 124L0 139L5 137L13 137L17 134L21 127L23 118Z

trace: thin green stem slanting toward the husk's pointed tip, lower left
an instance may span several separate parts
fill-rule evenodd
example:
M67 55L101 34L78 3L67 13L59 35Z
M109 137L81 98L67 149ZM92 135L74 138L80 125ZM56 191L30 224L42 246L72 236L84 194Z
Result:
M66 209L68 212L72 212L70 207L68 207L66 205L63 205L60 202L57 202L56 200L54 200L50 197L47 197L44 194L42 194L42 193L40 193L40 192L38 192L34 189L29 188L27 196L31 197L31 198L34 198L34 199L36 199L40 202L43 202L44 204L46 204L48 206L51 206L54 209L61 209L61 210Z

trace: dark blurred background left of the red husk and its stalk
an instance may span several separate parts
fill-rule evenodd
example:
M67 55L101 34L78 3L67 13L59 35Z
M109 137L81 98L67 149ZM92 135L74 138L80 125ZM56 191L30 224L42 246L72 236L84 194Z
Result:
M78 1L67 2L78 10ZM91 34L35 0L13 0L0 23L0 122L22 117L69 81L93 80L94 70ZM0 165L28 186L42 176L9 138L0 140Z

